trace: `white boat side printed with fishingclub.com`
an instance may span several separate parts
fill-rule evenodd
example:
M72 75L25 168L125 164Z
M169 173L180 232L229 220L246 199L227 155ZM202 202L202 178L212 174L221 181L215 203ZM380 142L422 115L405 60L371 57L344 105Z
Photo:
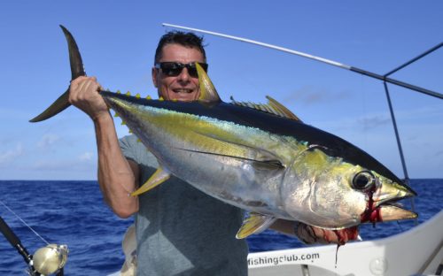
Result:
M336 245L251 253L250 276L441 275L443 211L390 237ZM336 264L336 253L337 264Z

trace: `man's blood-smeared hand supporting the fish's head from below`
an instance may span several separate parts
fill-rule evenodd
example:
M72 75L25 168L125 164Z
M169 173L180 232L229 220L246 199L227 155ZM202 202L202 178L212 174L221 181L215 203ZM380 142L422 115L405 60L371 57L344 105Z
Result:
M340 229L328 230L315 226L308 226L301 222L296 222L294 233L302 242L311 243L337 243L343 245L348 241L357 239L359 230L357 226Z

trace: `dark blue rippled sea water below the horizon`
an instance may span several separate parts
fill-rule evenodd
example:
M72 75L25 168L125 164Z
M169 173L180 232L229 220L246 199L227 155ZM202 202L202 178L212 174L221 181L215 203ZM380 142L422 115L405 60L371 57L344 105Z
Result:
M412 180L418 223L443 209L443 180ZM24 219L50 243L67 244L65 275L106 275L120 270L124 257L121 238L132 219L119 219L101 196L97 181L0 180L0 201ZM410 206L410 201L405 200ZM0 216L12 227L29 253L45 243L11 211L0 204ZM400 221L361 226L363 240L398 234L414 226ZM303 246L297 239L265 231L248 238L251 252ZM16 249L0 234L0 274L26 275L26 264Z

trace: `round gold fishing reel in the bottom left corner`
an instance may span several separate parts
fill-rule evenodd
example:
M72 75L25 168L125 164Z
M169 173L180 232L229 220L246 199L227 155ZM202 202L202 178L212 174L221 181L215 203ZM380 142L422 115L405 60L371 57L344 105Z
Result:
M66 265L67 253L66 245L48 244L41 249L37 249L29 265L39 274L35 274L35 272L30 274L50 275L58 272L57 275L63 275L62 268Z

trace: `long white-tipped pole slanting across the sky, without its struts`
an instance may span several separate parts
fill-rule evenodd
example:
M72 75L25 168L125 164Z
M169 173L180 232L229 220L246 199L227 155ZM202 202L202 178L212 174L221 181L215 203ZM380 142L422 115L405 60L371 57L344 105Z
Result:
M229 38L229 39L232 39L232 40L237 40L237 41L240 41L240 42L247 42L247 43L256 44L256 45L259 45L259 46L262 46L262 47L266 47L266 48L270 48L270 49L274 49L274 50L281 50L281 51L284 51L284 52L287 52L287 53L290 53L290 54L294 54L294 55L297 55L297 56L300 56L300 57L303 57L303 58L314 59L316 61L320 61L320 62L323 62L323 63L328 64L328 65L334 65L334 66L337 66L339 68L352 71L354 73L361 73L361 74L363 74L365 76L368 76L368 77L371 77L371 78L374 78L374 79L377 79L377 80L383 80L385 82L389 82L389 83L398 85L398 86L403 87L403 88L408 88L408 89L415 90L417 92L420 92L420 93L423 93L423 94L426 94L426 95L429 95L429 96L435 96L435 97L438 97L439 99L443 99L443 94L440 94L438 92L432 91L430 89L421 88L421 87L409 84L409 83L404 82L404 81L388 78L387 77L388 74L380 75L380 74L377 74L377 73L372 73L372 72L369 72L367 70L363 70L361 68L357 68L357 67L354 67L354 66L351 66L351 65L345 65L345 64L339 63L337 61L333 61L333 60L327 59L327 58L315 57L313 55L310 55L310 54L307 54L307 53L304 53L304 52L300 52L300 51L297 51L297 50L291 50L291 49L287 49L287 48L284 48L284 47L280 47L280 46L276 46L276 45L272 45L272 44L268 44L268 43L264 43L264 42L253 41L251 39L247 39L247 38L243 38L243 37L238 37L238 36L234 36L234 35L224 35L224 34L221 34L221 33L215 33L215 32L206 31L206 30L202 30L202 29L198 29L198 28L193 28L193 27L183 27L183 26L178 26L178 25L173 25L173 24L168 24L168 23L162 23L162 26L164 26L164 27L181 28L181 29L185 29L185 30L190 30L190 31L198 32L198 33L221 36L221 37ZM443 42L439 43L439 45L435 46L434 48L436 48L435 50L437 50L441 46L443 46Z

